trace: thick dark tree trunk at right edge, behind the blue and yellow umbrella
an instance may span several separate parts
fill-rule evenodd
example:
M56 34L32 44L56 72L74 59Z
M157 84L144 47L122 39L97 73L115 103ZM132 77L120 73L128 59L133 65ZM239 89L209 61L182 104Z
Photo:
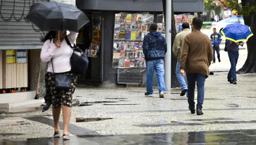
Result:
M254 0L242 0L242 6L255 6ZM256 34L256 13L250 13L250 15L244 15L245 25L250 26L252 33ZM256 73L256 36L251 37L247 42L248 56L240 70L237 73Z

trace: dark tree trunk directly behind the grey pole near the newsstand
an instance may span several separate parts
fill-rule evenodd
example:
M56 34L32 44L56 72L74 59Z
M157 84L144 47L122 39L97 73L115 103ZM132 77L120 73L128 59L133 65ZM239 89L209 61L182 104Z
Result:
M166 24L166 0L162 0L163 6L164 6L164 21ZM173 46L173 42L176 36L176 27L175 27L175 19L174 19L174 12L173 12L173 0L171 0L171 49ZM166 32L167 33L167 32ZM180 84L176 77L176 63L177 59L173 55L173 52L171 51L171 87L179 87Z

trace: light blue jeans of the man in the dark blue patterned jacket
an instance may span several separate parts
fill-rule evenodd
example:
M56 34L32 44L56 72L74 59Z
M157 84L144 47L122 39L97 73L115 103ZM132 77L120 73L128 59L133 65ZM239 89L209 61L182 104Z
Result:
M158 89L159 93L165 91L165 84L164 84L164 60L153 60L147 61L147 93L153 94L153 75L154 70L157 73L157 80L158 80Z

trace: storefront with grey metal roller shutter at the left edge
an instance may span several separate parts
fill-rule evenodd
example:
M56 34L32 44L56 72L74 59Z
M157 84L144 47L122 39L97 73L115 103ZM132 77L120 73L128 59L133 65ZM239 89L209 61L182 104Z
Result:
M41 1L47 0L1 0L0 108L35 97L43 33L25 16L32 4Z

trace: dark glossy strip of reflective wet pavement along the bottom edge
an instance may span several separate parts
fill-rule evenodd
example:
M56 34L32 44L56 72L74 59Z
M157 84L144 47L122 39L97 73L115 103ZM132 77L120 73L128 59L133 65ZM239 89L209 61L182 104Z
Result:
M131 134L115 136L79 136L71 137L70 141L62 139L41 138L28 139L27 141L0 140L2 145L26 144L52 144L52 145L77 145L77 144L111 144L111 145L176 145L176 144L256 144L256 130L227 130L210 132L180 132L169 134Z

